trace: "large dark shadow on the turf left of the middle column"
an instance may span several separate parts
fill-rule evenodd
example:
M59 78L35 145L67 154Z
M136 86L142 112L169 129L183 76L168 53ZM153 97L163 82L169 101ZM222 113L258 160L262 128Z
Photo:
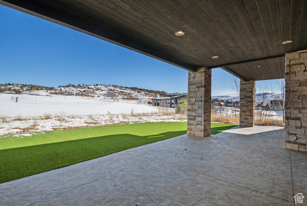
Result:
M186 134L115 134L0 150L0 184Z

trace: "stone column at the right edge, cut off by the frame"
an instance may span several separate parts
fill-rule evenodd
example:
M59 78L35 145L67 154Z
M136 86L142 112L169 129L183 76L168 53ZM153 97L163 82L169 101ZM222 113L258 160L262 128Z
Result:
M286 53L284 148L307 152L307 50Z

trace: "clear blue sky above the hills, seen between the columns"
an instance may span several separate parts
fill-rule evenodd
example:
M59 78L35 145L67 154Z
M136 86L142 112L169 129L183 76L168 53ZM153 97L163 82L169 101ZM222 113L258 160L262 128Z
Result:
M0 5L0 84L115 84L187 92L171 64ZM232 95L231 74L212 69L212 96ZM278 91L276 80L256 82Z

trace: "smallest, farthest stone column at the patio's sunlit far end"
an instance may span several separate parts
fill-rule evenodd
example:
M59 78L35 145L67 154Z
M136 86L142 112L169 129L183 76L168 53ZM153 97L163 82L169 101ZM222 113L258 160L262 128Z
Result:
M240 80L240 126L255 126L255 81Z

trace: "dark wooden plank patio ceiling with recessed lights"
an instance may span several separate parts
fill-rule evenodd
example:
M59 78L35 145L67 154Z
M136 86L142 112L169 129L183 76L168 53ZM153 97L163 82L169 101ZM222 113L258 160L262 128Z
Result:
M307 0L0 0L0 4L189 71L222 67L243 80L284 78L285 53L307 49ZM185 34L177 36L177 31ZM293 42L282 44L288 40Z

